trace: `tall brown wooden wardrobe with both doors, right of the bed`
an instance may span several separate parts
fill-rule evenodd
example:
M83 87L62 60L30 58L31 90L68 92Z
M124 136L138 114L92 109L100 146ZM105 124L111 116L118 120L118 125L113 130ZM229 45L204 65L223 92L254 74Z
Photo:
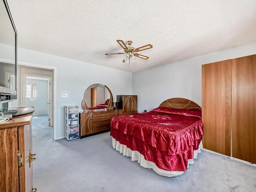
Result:
M202 65L204 148L256 163L256 55Z

